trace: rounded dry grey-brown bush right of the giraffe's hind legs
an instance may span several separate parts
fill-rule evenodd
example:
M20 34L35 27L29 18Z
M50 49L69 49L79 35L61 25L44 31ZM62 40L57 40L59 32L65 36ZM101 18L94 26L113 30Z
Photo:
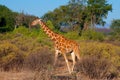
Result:
M107 59L97 56L88 56L76 64L77 71L92 79L106 79L109 76L111 63Z

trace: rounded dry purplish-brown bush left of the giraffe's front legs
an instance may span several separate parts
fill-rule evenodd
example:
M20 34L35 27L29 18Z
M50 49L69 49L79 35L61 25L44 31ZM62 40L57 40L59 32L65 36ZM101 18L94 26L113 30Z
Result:
M26 57L24 64L24 66L30 70L51 69L53 56L47 48L36 49Z

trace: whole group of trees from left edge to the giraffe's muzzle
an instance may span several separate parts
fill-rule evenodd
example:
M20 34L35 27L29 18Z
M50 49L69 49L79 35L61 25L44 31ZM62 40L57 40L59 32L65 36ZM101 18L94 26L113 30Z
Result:
M35 16L13 12L6 6L0 5L0 33L13 31L18 26L30 27Z

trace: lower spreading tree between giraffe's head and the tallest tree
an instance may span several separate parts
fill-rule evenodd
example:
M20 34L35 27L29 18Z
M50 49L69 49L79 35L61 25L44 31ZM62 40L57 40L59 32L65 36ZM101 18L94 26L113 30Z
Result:
M76 7L74 7L74 9ZM80 16L81 8L76 8L76 12L74 9L71 5L61 6L60 8L56 8L53 12L46 13L42 18L45 21L52 21L56 29L60 29L60 26L65 26L66 24L73 26L78 21L81 21L81 17L78 17Z

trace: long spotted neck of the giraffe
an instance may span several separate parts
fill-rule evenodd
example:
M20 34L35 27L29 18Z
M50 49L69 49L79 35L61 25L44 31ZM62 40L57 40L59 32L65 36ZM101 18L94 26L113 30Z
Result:
M43 31L48 35L48 37L50 37L52 40L55 40L55 37L57 35L56 33L49 29L48 26L43 21L39 21L39 25L41 26Z

